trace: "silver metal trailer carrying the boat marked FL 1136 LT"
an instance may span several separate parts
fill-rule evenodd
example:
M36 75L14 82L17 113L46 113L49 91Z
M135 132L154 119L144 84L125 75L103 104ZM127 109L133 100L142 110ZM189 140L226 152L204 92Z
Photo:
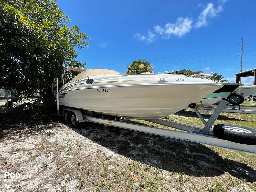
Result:
M175 139L180 139L184 141L191 141L196 143L202 143L217 147L223 147L223 148L229 148L233 150L238 151L244 151L244 152L250 152L256 154L256 145L248 145L248 144L241 144L241 143L235 143L231 142L229 140L222 139L220 137L217 137L214 135L214 132L211 130L211 127L217 120L218 116L222 112L223 108L227 105L228 99L223 98L217 108L215 109L214 113L210 116L209 120L206 122L204 118L201 116L201 114L197 111L195 107L193 107L195 113L198 115L202 123L204 124L204 128L182 124L182 123L176 123L164 119L145 119L145 121L168 126L175 128L177 130L170 130L165 128L159 128L159 127L153 127L153 126L147 126L147 125L138 125L134 123L128 123L126 122L129 120L129 118L120 118L117 119L115 117L111 116L90 116L82 114L81 110L74 109L74 108L64 108L62 110L62 113L59 113L59 94L58 94L58 79L57 79L57 109L58 114L63 116L64 119L66 118L67 112L72 112L73 116L71 118L71 125L79 125L81 122L93 122L93 123L99 123L103 124L105 126L113 126L113 127L119 127L123 129L133 130L133 131L139 131L143 133L149 133L164 137L170 137ZM115 120L113 120L115 119ZM65 119L66 120L66 119ZM73 122L72 122L73 121Z

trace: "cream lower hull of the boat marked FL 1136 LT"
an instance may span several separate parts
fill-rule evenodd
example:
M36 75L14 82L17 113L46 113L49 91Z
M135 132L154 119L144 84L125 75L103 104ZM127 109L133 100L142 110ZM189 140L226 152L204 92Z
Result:
M59 102L61 105L103 114L151 119L183 110L197 98L208 94L209 89L201 89L201 86L168 85L81 89L70 91ZM215 89L212 87L213 91ZM106 91L98 92L101 90Z

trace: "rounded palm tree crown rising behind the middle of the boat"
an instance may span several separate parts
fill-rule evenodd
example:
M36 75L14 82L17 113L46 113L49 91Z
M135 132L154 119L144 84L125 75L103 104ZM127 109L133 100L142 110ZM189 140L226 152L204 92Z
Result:
M127 66L126 74L139 74L145 72L154 73L152 64L147 60L133 60L130 65Z

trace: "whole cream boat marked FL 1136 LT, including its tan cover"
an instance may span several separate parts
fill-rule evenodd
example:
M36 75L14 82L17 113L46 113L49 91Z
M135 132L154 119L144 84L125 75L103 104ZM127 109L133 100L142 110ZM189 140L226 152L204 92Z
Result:
M179 74L89 69L59 90L59 104L111 116L155 119L183 110L221 87L220 82Z

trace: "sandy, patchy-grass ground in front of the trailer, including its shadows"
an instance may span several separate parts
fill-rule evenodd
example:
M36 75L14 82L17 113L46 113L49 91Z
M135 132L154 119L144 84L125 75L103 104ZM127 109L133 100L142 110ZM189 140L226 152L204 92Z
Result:
M0 191L256 191L255 154L58 116L0 120Z

